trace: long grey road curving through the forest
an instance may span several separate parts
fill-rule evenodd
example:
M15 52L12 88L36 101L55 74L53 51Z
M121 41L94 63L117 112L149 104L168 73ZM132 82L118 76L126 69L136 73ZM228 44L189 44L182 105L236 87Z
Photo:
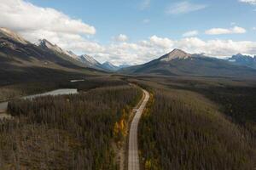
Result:
M130 134L129 134L129 150L128 150L128 170L139 170L140 161L138 156L138 147L137 147L137 127L140 121L140 118L143 114L143 110L148 103L149 94L146 90L143 90L144 99L143 103L140 105L136 114L131 122Z

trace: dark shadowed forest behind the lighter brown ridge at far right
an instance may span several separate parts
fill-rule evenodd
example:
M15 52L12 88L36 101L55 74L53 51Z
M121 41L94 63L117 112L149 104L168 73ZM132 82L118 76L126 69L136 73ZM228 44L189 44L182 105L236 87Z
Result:
M175 82L175 85L174 83ZM256 138L256 87L255 82L225 80L178 80L169 83L170 88L185 89L202 94L218 104L219 111L232 122L239 124Z

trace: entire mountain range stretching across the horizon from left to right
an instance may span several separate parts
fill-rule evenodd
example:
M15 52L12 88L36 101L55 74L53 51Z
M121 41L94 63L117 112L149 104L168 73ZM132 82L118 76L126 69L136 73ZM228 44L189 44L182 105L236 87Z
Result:
M256 56L236 54L229 59L217 59L204 54L188 54L180 49L143 65L101 64L87 54L77 55L46 39L33 44L14 31L0 28L0 78L15 79L45 75L45 72L118 72L122 74L200 76L200 77L256 77ZM44 70L44 71L43 71ZM12 75L7 77L6 75ZM32 76L33 75L33 76ZM47 75L47 74L46 74Z

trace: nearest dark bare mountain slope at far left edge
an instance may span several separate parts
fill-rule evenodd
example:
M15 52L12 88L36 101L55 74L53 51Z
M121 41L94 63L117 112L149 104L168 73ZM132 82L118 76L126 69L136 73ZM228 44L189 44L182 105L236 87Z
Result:
M8 31L8 30L7 30ZM27 42L15 32L0 29L1 82L37 80L84 73L96 70L53 48Z

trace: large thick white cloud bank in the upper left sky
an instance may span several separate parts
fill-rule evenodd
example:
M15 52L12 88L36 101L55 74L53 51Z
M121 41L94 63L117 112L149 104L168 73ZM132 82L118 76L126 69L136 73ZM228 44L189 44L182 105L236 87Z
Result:
M0 8L0 26L18 31L30 42L45 38L61 48L79 53L104 50L97 42L85 38L96 34L94 26L54 8L41 8L24 0L1 1Z

